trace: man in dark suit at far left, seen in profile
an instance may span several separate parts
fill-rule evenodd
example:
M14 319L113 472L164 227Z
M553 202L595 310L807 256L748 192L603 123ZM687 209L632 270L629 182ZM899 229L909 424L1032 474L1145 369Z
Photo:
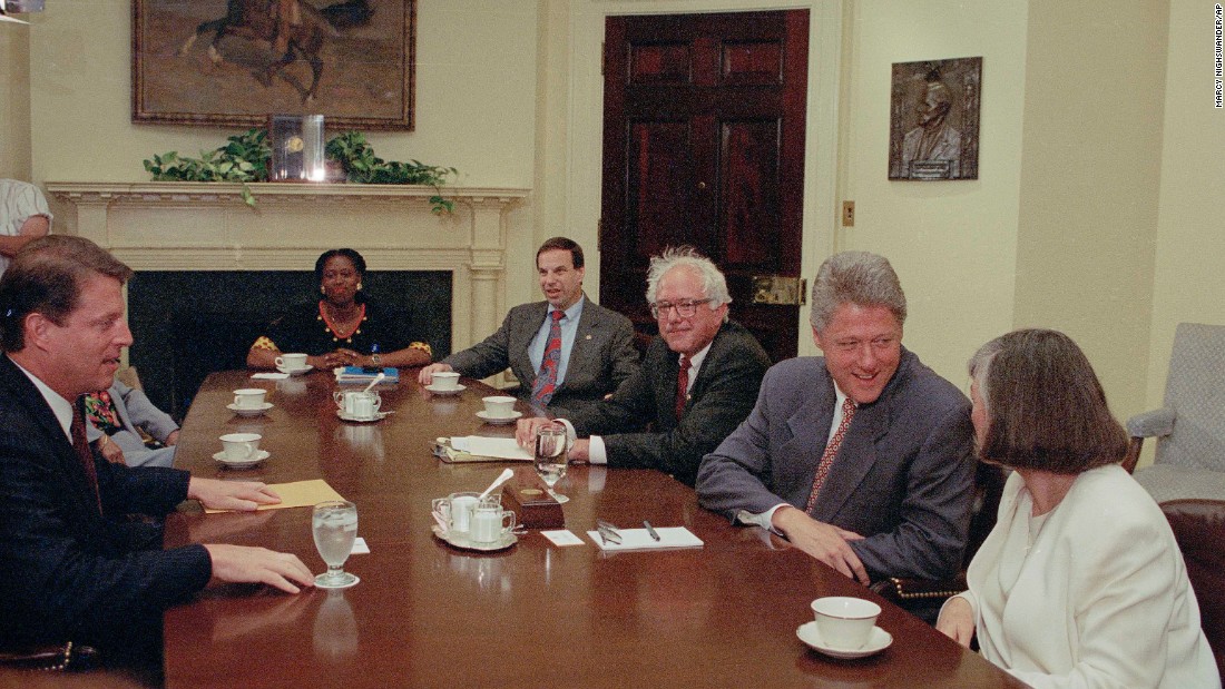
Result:
M255 509L279 498L257 482L132 469L93 454L81 395L110 385L123 348L131 269L89 240L27 245L0 278L0 646L75 641L119 665L160 651L162 611L209 581L311 584L294 556L229 545L163 551L159 518L184 499ZM76 439L76 441L75 441Z

